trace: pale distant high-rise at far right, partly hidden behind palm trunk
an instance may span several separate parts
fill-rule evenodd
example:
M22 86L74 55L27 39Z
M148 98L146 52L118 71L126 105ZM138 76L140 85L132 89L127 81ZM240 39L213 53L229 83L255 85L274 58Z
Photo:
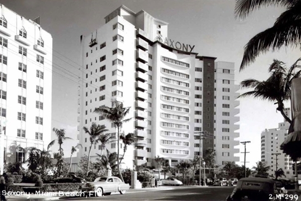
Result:
M290 109L286 108L284 112L290 118ZM288 128L289 123L284 120L278 124L278 128L265 129L261 133L261 161L266 162L266 165L271 167L268 171L269 175L275 175L276 169L282 168L286 178L294 176L293 161L280 150L280 145L287 137Z

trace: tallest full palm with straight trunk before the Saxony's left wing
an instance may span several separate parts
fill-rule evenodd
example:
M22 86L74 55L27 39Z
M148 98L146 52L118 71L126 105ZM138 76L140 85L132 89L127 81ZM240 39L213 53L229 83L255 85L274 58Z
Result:
M123 123L128 122L130 120L130 119L124 120L125 116L129 113L130 108L123 108L123 104L118 102L117 100L113 101L113 105L115 106L113 108L109 108L106 106L95 108L94 112L101 114L102 116L104 116L104 118L112 122L115 125L115 127L117 127L117 161L119 161L120 129L122 128ZM120 165L118 162L117 164L118 174L120 176L120 179L124 182L119 166Z

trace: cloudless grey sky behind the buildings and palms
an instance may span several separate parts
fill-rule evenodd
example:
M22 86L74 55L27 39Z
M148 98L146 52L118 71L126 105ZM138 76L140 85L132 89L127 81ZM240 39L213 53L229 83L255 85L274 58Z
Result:
M290 66L300 57L299 49L282 48L256 58L239 72L244 45L257 33L271 27L285 10L267 7L251 13L246 19L235 19L235 0L0 0L0 3L27 19L40 16L41 27L53 37L52 128L66 129L66 136L77 135L77 81L80 67L80 36L101 27L104 17L124 5L137 13L144 10L154 18L169 23L168 37L195 45L200 56L217 57L217 61L235 63L236 83L248 78L265 80L273 59ZM240 90L239 92L245 92ZM240 98L239 141L247 144L246 166L260 160L260 134L277 128L283 122L276 105L260 99ZM290 103L285 103L286 107ZM55 139L54 133L52 134ZM70 155L70 140L64 145ZM239 146L244 151L243 145ZM54 146L54 150L57 147ZM240 162L243 154L240 153ZM242 164L242 163L239 163Z

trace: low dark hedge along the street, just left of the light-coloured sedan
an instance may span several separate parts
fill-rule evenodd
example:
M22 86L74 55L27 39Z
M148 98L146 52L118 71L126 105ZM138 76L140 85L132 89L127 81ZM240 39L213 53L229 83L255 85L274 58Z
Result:
M71 192L79 190L79 187L83 185L82 183L47 183L43 184L42 191L44 192Z

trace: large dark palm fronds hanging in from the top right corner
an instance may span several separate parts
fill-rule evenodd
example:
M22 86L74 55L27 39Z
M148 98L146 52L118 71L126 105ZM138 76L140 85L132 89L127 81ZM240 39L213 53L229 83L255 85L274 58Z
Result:
M240 70L255 61L260 53L282 46L299 46L301 43L301 1L299 0L236 0L235 17L245 18L255 9L265 6L284 6L283 12L271 28L255 35L245 45Z

